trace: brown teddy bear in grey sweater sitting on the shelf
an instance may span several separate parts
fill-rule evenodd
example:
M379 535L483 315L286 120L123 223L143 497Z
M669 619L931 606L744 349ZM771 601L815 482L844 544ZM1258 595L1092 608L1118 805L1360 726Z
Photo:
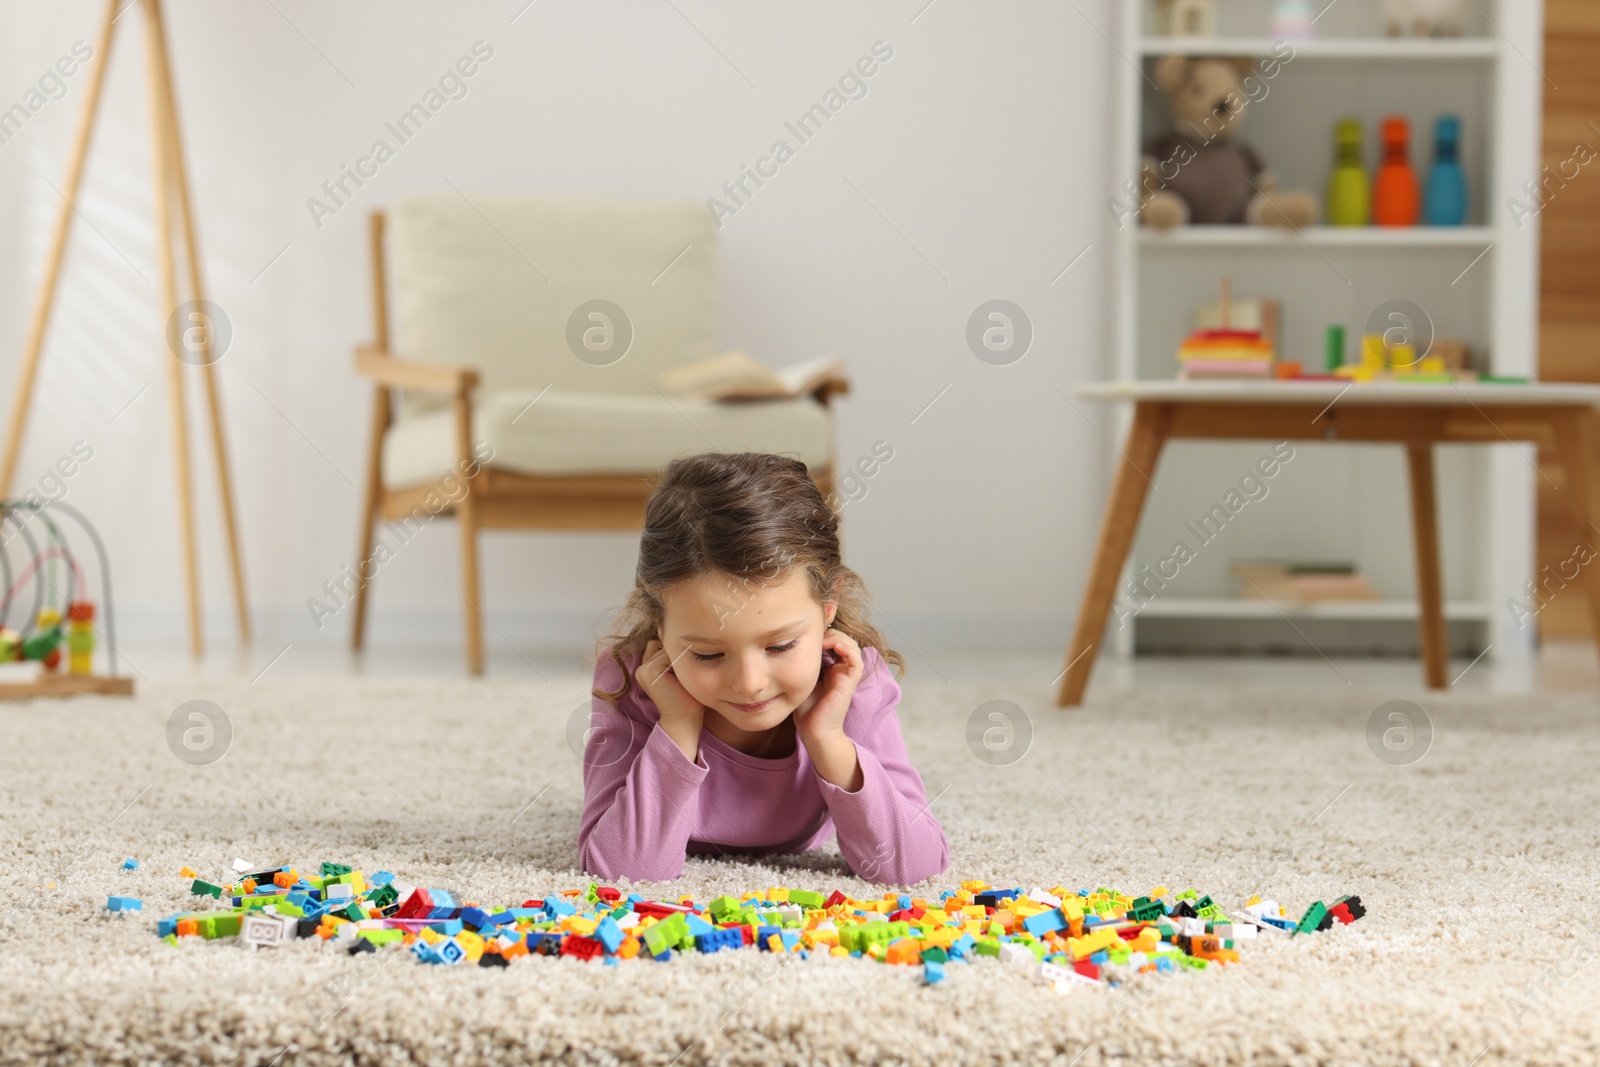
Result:
M1162 56L1155 85L1178 128L1144 146L1139 221L1155 229L1195 222L1299 229L1317 221L1317 197L1280 190L1254 149L1235 133L1250 106L1251 59Z

